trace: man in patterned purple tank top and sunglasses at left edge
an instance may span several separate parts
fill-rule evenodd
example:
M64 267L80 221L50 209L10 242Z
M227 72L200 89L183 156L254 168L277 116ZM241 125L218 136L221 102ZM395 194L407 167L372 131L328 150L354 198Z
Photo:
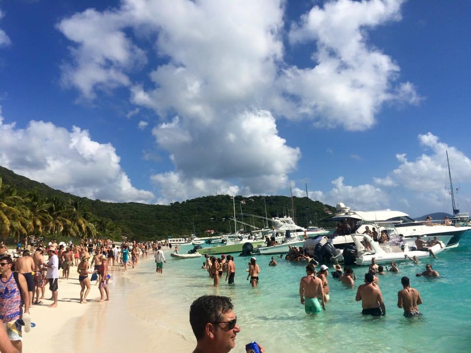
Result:
M28 288L25 277L19 273L13 273L11 266L13 260L10 256L0 257L0 321L5 327L8 338L13 346L22 351L22 325L18 323L23 319L25 331L31 329L31 317L29 316ZM22 297L26 298L25 313L22 314Z

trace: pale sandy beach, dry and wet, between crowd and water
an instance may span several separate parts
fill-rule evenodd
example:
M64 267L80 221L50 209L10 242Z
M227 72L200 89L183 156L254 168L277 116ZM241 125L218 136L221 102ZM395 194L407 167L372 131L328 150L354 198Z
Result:
M153 258L141 260L140 267L144 261L153 261ZM195 347L194 337L184 338L175 333L179 327L188 330L188 319L183 320L181 316L180 321L175 320L165 304L165 291L162 291L161 305L156 307L154 301L150 307L146 304L146 294L140 292L140 285L128 278L142 274L140 267L128 270L126 275L123 275L122 267L117 270L110 268L110 302L98 302L98 286L92 282L87 304L78 303L80 285L77 267L73 267L71 278L59 279L58 307L49 308L47 305L52 302L43 300L42 305L31 308L31 320L36 327L23 333L23 352L63 353L89 349L102 352L191 352ZM46 285L46 298L51 294L48 287ZM139 319L141 310L155 312L163 322L172 326L172 331L157 326L155 322Z

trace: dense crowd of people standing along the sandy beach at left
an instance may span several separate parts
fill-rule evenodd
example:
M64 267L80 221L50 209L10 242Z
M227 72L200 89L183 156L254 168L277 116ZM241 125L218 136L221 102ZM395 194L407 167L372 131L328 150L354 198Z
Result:
M88 303L93 281L100 294L98 302L106 302L110 300L110 269L136 268L139 259L147 258L151 251L160 251L157 241L115 244L109 239L87 239L78 244L72 240L57 244L51 239L45 244L43 238L27 237L17 245L16 252L8 252L0 244L0 319L5 327L0 329L0 342L2 337L8 337L12 345L10 350L8 345L0 344L0 352L22 351L22 331L29 332L31 328L30 309L45 305L43 300L52 301L50 308L57 307L59 278L69 279L74 267L80 284L79 303ZM45 299L47 284L50 299Z

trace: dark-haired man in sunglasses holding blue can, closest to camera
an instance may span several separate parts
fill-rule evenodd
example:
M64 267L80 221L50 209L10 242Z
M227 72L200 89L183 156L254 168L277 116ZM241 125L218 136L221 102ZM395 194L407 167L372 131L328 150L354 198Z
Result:
M190 325L196 337L193 353L227 353L240 332L231 298L205 295L190 306ZM261 353L264 349L259 345Z

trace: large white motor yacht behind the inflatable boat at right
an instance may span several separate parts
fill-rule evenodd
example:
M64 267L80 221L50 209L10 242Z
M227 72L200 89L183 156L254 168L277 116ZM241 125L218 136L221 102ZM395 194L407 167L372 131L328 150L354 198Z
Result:
M402 234L406 239L415 238L417 235L436 236L438 240L445 243L447 248L457 247L460 239L471 229L471 227L445 226L426 221L417 222L409 217L407 213L390 209L366 212L351 211L349 207L345 207L341 202L337 204L337 211L338 213L332 220L345 220L352 228L352 231L356 233L362 233L366 225L368 225L370 228L376 227L378 233L384 229L389 235ZM450 235L451 238L448 238ZM446 239L448 239L447 242L445 242ZM345 237L344 240L351 243L351 239L348 239L348 237Z

